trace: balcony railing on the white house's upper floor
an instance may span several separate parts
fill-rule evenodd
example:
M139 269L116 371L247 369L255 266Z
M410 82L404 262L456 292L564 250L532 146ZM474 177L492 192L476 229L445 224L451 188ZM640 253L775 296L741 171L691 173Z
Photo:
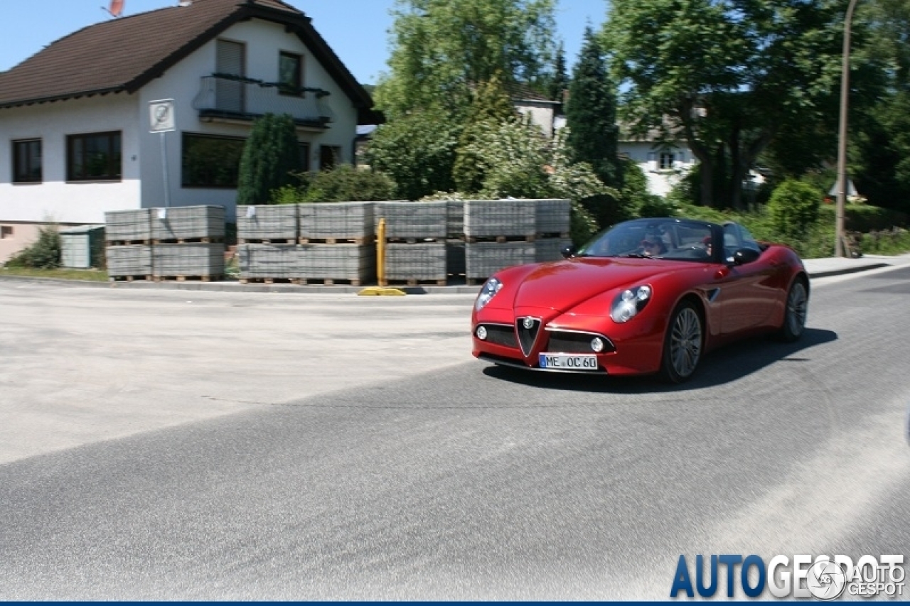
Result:
M200 118L252 121L265 114L288 114L298 126L328 128L335 120L319 88L290 89L274 82L214 74L202 78L193 99Z

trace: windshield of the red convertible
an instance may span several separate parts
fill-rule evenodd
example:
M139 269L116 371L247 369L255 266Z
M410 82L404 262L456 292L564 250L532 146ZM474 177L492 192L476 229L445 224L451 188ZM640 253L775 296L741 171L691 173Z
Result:
M576 256L710 261L712 227L672 218L626 221L598 234Z

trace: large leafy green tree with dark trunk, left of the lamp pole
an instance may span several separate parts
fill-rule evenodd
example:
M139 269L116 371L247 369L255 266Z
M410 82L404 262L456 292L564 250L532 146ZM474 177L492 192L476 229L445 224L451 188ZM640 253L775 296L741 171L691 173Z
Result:
M834 119L843 20L835 0L614 0L603 39L635 132L687 140L703 204L742 207L782 126Z

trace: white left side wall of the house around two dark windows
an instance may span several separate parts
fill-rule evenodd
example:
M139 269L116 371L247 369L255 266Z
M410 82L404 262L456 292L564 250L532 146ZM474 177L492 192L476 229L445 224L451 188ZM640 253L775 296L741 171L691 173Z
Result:
M107 210L139 207L136 96L107 95L0 109L0 220L104 223ZM66 136L121 131L123 179L66 182ZM12 184L12 141L41 138L43 182Z

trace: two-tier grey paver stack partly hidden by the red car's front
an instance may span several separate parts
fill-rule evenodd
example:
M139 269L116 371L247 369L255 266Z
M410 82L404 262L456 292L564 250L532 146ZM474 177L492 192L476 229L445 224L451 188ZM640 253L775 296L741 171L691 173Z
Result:
M465 274L469 285L501 268L536 258L537 200L468 200L464 203Z

